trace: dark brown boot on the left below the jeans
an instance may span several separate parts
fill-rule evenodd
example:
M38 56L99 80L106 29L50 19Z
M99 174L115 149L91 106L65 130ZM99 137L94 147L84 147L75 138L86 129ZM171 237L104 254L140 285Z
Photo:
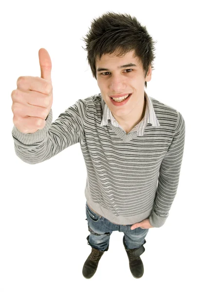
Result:
M89 236L87 237L87 240L89 239ZM89 242L89 241L88 241ZM92 252L88 256L87 260L84 263L82 274L86 279L90 279L93 277L95 274L97 267L98 267L98 262L103 256L104 252L108 251L109 247L105 251L100 251L96 248L92 247Z

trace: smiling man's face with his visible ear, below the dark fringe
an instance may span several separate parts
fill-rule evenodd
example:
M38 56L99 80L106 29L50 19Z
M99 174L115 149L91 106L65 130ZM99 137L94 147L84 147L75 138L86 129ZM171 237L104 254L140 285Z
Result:
M136 112L139 104L144 102L145 81L151 80L151 66L149 66L148 75L145 73L142 65L139 65L138 58L134 58L134 51L130 51L123 57L112 55L102 55L101 60L96 58L96 77L101 95L111 110L113 116L118 119L129 121ZM129 65L123 68L120 66ZM101 70L103 68L104 70ZM130 97L123 102L114 102L110 95L127 95Z

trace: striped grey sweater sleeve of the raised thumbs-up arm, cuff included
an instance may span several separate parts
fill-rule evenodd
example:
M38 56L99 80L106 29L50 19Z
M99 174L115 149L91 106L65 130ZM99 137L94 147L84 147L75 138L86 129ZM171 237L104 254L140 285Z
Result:
M16 155L25 163L37 164L78 143L84 136L85 108L84 100L79 99L61 113L53 123L51 109L46 118L45 127L35 133L25 134L14 126L12 136Z

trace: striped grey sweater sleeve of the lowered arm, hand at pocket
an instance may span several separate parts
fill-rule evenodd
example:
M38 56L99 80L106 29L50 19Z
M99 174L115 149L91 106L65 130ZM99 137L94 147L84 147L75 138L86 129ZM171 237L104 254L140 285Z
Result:
M177 111L177 114L174 136L160 165L154 207L149 216L153 227L161 227L165 223L178 188L185 144L185 121L180 112Z

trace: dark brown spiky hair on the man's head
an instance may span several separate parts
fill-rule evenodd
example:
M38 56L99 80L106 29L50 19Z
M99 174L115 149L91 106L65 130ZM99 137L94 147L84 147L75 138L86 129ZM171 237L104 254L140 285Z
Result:
M91 67L93 77L96 77L95 60L102 55L115 54L123 56L134 50L134 57L138 57L146 78L149 66L153 67L154 44L152 37L148 34L146 26L129 14L107 12L99 18L93 18L91 29L83 40L86 43L87 60ZM147 82L145 81L147 88Z

